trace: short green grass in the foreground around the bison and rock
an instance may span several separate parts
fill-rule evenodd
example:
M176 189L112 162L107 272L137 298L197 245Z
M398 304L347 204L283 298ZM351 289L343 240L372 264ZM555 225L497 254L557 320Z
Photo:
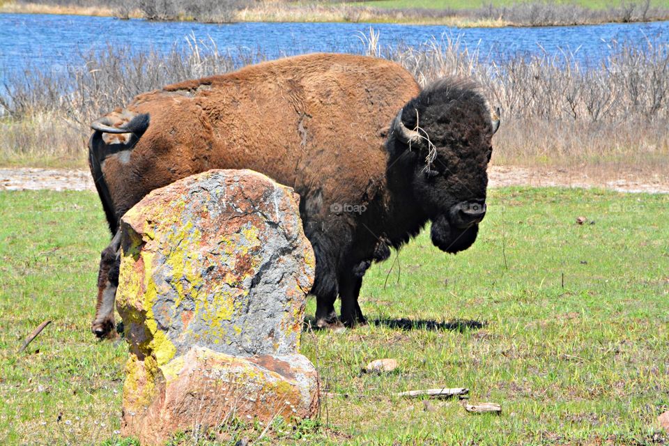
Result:
M320 424L279 427L284 433L272 438L669 441L655 424L669 409L668 209L667 195L492 190L468 251L443 254L422 233L390 275L394 257L371 268L362 309L380 323L305 333L303 353L328 392L349 396L326 398ZM1 192L0 215L0 444L132 445L114 434L127 349L89 332L98 253L108 237L97 197ZM578 225L578 216L594 224ZM314 309L311 299L308 314ZM392 321L400 318L415 328L397 328ZM17 353L45 319L54 322ZM381 357L396 358L399 371L359 374ZM501 403L502 415L470 415L457 401L424 410L422 401L392 396L441 386L469 387L471 401ZM243 429L249 438L259 433ZM174 444L192 444L188 438Z

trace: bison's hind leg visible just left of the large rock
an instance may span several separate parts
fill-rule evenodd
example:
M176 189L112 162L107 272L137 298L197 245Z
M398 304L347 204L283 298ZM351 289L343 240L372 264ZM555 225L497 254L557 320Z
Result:
M112 242L100 254L98 305L91 325L91 330L98 338L114 336L114 300L118 286L118 266L121 263L120 247L121 231L117 231Z

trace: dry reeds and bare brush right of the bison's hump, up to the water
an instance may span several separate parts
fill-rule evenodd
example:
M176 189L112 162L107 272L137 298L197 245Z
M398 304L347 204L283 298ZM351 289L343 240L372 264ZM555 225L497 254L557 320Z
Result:
M369 41L374 38L368 38ZM502 109L497 164L620 168L649 175L669 167L669 45L619 45L585 67L571 54L482 58L459 40L371 54L398 61L422 84L470 76Z

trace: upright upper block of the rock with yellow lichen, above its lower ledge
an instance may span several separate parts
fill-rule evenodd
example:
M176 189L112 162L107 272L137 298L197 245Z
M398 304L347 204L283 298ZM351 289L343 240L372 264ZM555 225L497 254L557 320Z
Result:
M130 209L117 305L139 351L157 352L160 364L194 343L231 355L294 352L314 276L298 200L256 172L208 171Z

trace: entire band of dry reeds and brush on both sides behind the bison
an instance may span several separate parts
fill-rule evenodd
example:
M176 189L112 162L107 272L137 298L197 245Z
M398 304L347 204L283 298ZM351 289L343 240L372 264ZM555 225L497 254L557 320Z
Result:
M666 43L619 45L587 67L570 54L482 57L457 39L394 49L380 47L374 31L362 40L361 52L401 63L421 84L447 75L476 79L502 109L496 164L642 176L669 168ZM109 47L65 72L29 70L0 95L7 111L0 121L0 164L83 166L93 119L142 91L264 58L221 54L213 43L192 40L190 49L167 56Z

